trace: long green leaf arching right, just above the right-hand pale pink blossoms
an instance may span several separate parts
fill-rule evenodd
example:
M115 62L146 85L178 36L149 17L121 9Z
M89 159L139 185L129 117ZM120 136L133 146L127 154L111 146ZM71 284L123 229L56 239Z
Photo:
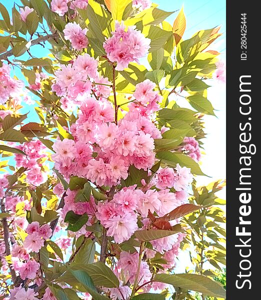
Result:
M189 167L191 169L191 173L195 175L205 175L201 171L199 165L188 155L177 152L173 153L169 151L162 151L156 153L156 157L169 166L175 167L176 164L179 163L180 166Z

